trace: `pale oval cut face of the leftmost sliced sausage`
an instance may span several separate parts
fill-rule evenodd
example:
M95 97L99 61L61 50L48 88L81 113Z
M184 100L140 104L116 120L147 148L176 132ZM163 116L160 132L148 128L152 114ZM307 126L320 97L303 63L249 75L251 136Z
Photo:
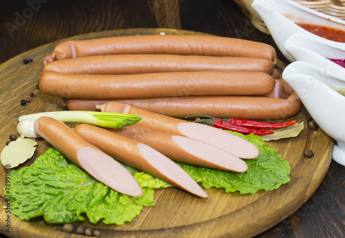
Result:
M143 195L141 186L134 177L116 160L91 147L77 151L80 166L106 186L132 197ZM95 163L97 160L97 163Z

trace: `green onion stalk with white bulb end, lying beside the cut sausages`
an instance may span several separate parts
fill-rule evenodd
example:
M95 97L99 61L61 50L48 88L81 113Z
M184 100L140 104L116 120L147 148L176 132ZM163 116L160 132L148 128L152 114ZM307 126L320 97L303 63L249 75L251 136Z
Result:
M108 127L113 129L122 129L141 120L141 117L139 116L126 113L103 111L48 111L20 116L19 125L17 125L17 131L18 128L20 129L20 132L18 131L18 133L23 136L26 134L26 130L30 129L32 131L31 127L33 127L33 123L30 124L28 121L34 122L41 116L49 116L50 118L54 118L61 122L88 123L99 127ZM26 123L26 125L23 127L24 123ZM32 133L29 134L34 135Z

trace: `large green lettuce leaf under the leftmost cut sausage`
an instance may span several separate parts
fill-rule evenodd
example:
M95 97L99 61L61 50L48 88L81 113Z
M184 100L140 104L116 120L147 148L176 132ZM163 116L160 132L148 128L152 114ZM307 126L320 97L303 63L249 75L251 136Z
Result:
M130 168L128 168L130 170ZM132 173L135 171L132 170ZM154 206L153 188L169 186L152 175L135 173L144 186L144 195L129 197L108 188L50 148L30 166L11 171L11 212L29 220L43 215L50 223L84 220L104 224L124 224L137 216L143 206Z

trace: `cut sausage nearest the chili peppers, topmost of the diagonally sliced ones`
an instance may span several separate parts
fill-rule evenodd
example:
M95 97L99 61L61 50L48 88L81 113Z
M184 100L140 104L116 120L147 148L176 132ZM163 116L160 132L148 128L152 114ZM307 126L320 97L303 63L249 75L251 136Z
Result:
M142 119L131 127L140 125L163 133L170 133L170 135L186 136L195 140L201 140L224 149L224 151L228 151L238 158L249 159L256 158L259 155L259 149L254 144L221 129L171 118L124 102L110 101L106 104L98 105L97 108L101 109L101 111L133 113L140 116Z

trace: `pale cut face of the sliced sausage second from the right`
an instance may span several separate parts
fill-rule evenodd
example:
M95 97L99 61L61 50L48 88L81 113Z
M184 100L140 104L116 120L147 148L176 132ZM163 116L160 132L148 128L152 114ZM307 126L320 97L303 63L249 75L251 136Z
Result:
M235 155L214 147L213 145L193 140L184 136L172 136L172 140L187 153L197 156L202 162L196 161L195 164L207 166L214 169L224 169L235 172L245 172L248 165Z

